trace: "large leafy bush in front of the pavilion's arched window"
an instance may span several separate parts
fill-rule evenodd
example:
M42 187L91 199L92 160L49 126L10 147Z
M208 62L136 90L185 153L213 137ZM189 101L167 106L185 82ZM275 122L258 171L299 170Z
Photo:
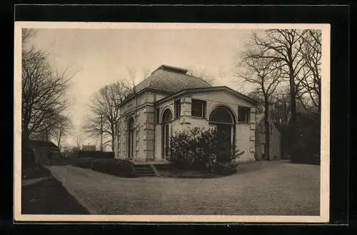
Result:
M178 168L223 173L243 152L231 146L224 131L194 127L176 131L169 140L168 160Z

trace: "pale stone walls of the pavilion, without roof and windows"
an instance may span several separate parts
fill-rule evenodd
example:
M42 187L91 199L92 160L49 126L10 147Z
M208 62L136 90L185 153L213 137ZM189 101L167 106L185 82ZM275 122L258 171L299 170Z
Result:
M121 118L117 124L117 134L114 153L119 159L126 159L127 151L127 119L129 116L134 118L134 149L136 161L162 161L162 116L166 109L174 113L174 100L166 101L158 107L154 107L154 102L163 99L164 94L144 92L129 101L121 108ZM201 99L206 101L206 119L191 116L191 99ZM137 104L137 105L136 105ZM193 94L181 97L181 112L178 119L171 122L172 133L183 129L193 128L194 126L207 126L211 111L217 106L226 106L231 109L234 119L238 121L238 106L251 107L251 123L236 123L236 145L244 154L238 161L254 161L255 151L255 109L235 96L231 96L223 91L213 91L209 93ZM155 123L155 109L159 108L159 120Z

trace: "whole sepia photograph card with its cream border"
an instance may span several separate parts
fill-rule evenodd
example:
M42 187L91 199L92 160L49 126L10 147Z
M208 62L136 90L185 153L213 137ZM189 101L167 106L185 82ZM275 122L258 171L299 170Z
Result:
M16 221L329 216L330 26L15 22Z

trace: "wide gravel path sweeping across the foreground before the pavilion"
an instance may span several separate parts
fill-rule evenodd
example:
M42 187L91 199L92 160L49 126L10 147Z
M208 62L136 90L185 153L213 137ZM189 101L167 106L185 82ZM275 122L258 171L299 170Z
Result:
M319 215L320 166L255 162L214 179L126 179L74 166L49 169L96 214Z

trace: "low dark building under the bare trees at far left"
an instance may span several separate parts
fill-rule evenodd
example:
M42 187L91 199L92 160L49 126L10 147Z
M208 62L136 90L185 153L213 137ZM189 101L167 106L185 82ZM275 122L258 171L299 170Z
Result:
M36 163L48 164L59 157L59 147L51 141L29 140L29 147L34 151Z

